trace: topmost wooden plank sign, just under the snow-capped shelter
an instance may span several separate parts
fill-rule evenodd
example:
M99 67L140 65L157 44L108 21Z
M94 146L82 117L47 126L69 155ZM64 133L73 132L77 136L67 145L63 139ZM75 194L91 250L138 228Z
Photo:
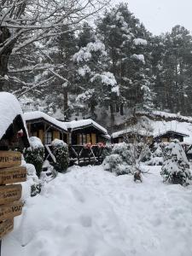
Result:
M20 166L21 154L18 151L0 151L0 168Z

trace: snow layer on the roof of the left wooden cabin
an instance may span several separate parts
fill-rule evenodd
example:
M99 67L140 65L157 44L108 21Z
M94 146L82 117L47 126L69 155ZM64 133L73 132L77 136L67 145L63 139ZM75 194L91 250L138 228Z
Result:
M61 128L61 130L67 131L67 125L64 122L61 122L41 111L26 112L24 113L24 119L26 121L29 121L32 119L44 119L49 123Z

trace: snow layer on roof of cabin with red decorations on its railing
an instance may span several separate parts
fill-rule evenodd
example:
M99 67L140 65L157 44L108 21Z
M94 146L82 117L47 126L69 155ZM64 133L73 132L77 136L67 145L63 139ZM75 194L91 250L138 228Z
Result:
M104 134L108 135L108 131L102 127L102 125L97 124L94 120L92 119L81 119L78 121L71 121L71 122L66 122L67 128L71 128L73 130L78 130L81 129L84 126L95 126L96 129L102 131Z

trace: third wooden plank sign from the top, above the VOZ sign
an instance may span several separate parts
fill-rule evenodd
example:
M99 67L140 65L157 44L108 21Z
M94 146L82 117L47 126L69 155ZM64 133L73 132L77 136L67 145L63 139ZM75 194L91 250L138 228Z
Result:
M1 186L0 205L20 200L21 190L22 186L20 184Z

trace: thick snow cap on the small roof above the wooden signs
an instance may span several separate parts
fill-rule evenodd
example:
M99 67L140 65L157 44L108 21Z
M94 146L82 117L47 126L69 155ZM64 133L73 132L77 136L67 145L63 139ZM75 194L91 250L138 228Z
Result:
M20 103L16 97L8 92L0 92L0 138L3 137L17 115L23 118ZM23 124L26 128L25 122Z

